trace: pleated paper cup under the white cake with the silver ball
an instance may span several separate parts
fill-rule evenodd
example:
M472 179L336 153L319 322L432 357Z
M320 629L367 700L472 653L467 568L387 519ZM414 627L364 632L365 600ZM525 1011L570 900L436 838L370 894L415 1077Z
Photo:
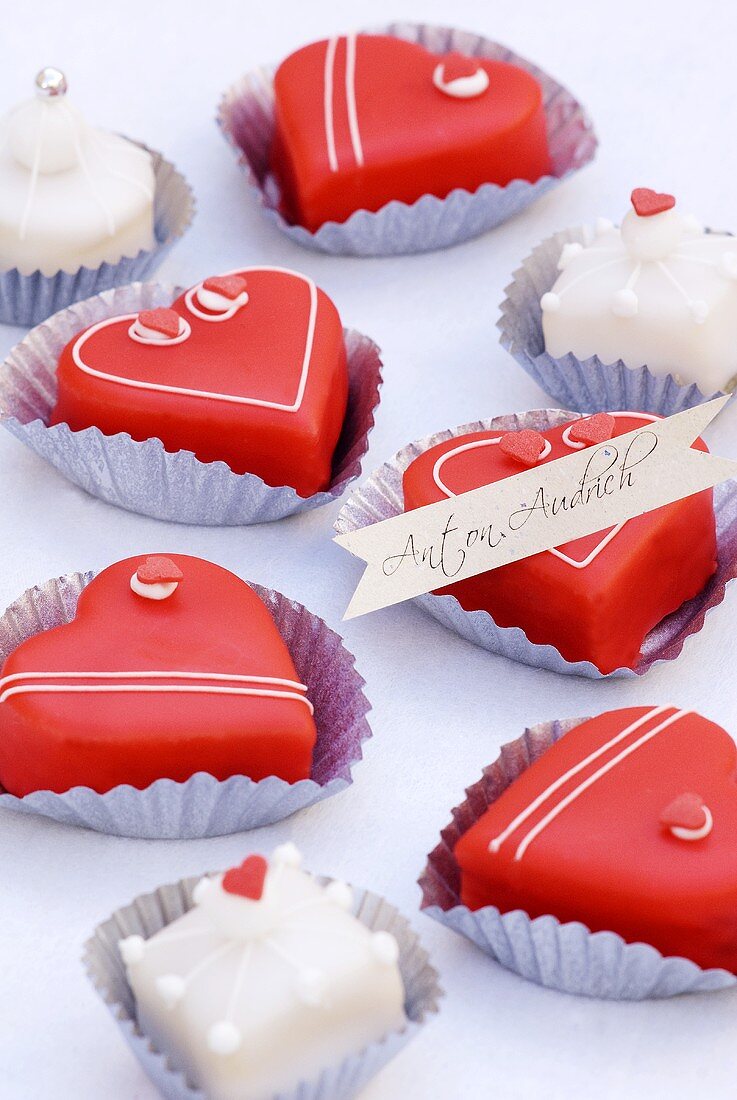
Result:
M189 228L195 216L195 197L182 173L161 153L150 150L155 176L153 249L142 249L136 256L122 256L118 263L99 267L79 267L56 275L21 275L18 268L0 272L0 322L40 324L46 317L113 286L124 286L147 278Z

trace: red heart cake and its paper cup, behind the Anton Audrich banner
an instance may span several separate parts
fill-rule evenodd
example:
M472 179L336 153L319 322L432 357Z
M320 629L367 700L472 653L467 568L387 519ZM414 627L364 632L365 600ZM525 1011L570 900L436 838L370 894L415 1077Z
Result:
M538 409L436 432L356 490L336 529L354 531L587 447L606 453L609 440L657 419ZM482 518L475 536L491 537ZM726 482L417 600L491 652L557 672L631 676L679 656L736 569L737 486Z

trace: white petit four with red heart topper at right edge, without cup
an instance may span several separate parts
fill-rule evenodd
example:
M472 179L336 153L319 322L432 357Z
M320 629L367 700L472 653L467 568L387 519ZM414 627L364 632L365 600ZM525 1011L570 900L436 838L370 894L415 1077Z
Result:
M541 298L546 350L623 360L696 383L705 394L737 375L737 240L707 233L672 195L632 191L620 228L601 220L565 244Z

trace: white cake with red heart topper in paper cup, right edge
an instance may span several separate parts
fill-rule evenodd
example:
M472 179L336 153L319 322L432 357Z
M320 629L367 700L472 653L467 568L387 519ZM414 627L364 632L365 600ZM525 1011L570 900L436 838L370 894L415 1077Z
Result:
M672 195L636 188L620 227L556 233L506 294L503 346L566 408L668 416L737 381L737 243Z

